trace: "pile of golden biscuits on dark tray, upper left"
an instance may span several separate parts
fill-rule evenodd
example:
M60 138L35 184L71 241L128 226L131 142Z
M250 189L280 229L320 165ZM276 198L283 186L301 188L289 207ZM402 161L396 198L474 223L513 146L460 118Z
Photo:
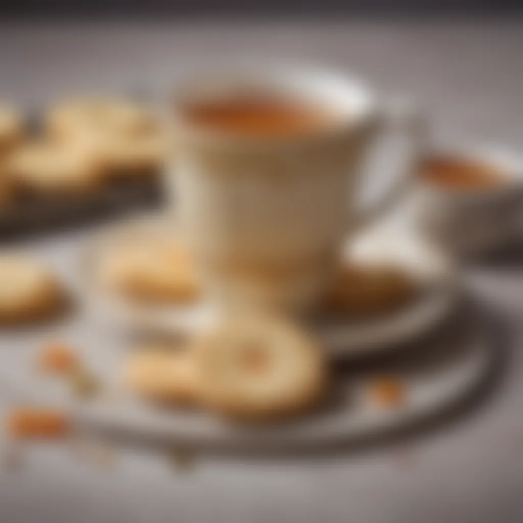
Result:
M131 100L65 101L31 133L19 111L0 107L0 206L30 195L70 198L116 179L158 173L165 139L151 108Z

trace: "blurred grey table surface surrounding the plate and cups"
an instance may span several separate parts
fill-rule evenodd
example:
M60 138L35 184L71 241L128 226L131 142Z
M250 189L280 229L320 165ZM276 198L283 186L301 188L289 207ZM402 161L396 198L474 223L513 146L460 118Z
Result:
M308 58L358 71L423 100L442 135L523 146L523 21L0 25L2 97L38 106L64 92L160 84L196 56L238 51ZM192 58L191 58L192 57ZM21 247L71 275L93 230ZM517 262L517 259L516 259ZM519 267L518 267L519 265ZM152 451L122 450L111 470L63 446L30 449L0 472L2 523L523 520L523 275L519 264L470 270L511 342L502 385L481 408L401 446L299 460L204 456L187 474ZM47 332L47 331L46 331ZM49 335L47 332L46 335ZM111 334L80 313L61 327L88 358ZM38 335L2 334L2 372L16 374ZM5 400L5 399L4 399ZM2 409L8 404L0 401Z

